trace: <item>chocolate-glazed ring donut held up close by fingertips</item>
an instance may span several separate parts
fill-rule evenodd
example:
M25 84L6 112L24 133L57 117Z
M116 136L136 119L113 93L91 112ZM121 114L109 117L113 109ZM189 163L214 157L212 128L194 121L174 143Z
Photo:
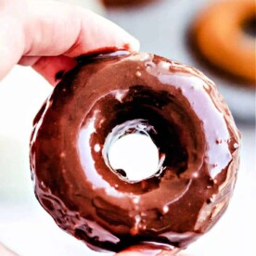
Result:
M224 213L239 132L216 86L194 68L147 53L81 58L34 120L35 194L93 250L180 250ZM147 132L160 170L131 181L112 170L111 141Z

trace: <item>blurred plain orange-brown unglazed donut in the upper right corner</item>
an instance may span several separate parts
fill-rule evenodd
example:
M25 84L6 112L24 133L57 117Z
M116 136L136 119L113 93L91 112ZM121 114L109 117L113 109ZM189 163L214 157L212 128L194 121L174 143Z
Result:
M255 20L254 0L215 1L198 16L192 40L211 65L256 86Z

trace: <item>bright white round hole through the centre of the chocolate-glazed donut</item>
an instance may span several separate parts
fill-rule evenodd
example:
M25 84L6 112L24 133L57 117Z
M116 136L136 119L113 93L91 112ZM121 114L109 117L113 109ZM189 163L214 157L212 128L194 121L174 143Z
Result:
M147 131L153 129L144 120L117 125L108 135L103 156L113 172L127 182L134 183L160 174L164 155Z

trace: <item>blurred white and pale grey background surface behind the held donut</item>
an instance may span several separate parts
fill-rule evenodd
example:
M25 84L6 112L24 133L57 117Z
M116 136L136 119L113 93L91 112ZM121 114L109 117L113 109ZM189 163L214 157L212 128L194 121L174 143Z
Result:
M243 136L237 188L221 221L181 254L255 255L251 235L256 230L255 90L233 86L234 82L211 72L187 46L188 28L211 1L122 0L122 5L115 5L117 1L105 0L107 7L96 0L63 2L96 10L134 34L141 51L195 66L217 83ZM15 67L0 83L0 241L24 256L103 255L61 231L33 195L29 167L32 119L51 91L41 76L24 67Z

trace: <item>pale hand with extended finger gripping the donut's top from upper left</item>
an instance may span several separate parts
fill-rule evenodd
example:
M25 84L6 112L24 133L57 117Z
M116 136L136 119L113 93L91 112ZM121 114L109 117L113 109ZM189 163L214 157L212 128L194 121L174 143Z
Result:
M6 7L0 17L0 79L22 56L74 58L106 48L138 50L137 40L129 33L81 7L52 1L4 2ZM41 72L39 65L35 67Z

